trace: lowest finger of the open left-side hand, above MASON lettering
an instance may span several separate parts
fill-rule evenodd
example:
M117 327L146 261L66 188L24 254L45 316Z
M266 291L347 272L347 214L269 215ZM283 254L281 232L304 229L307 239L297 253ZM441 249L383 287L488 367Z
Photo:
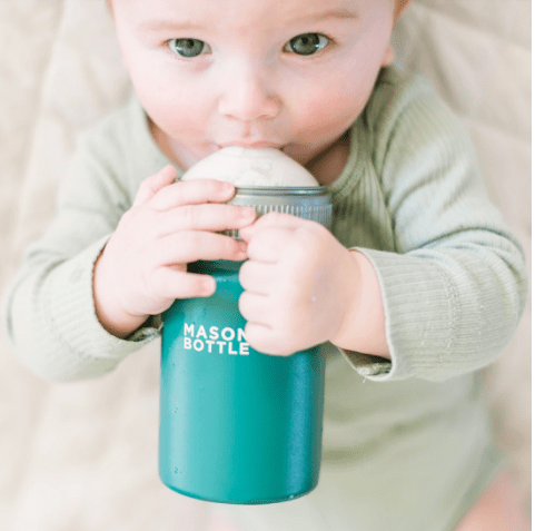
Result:
M172 267L158 267L151 277L151 288L161 298L209 297L216 291L210 275L187 273Z

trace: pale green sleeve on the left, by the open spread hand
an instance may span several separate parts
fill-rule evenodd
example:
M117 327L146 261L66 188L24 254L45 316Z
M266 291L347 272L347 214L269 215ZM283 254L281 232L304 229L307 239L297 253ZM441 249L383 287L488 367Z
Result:
M99 323L93 265L131 198L112 139L82 137L60 190L57 215L32 244L8 294L6 321L17 355L50 381L102 375L159 333L149 319L120 340ZM116 146L117 148L117 146ZM117 153L117 149L116 149Z

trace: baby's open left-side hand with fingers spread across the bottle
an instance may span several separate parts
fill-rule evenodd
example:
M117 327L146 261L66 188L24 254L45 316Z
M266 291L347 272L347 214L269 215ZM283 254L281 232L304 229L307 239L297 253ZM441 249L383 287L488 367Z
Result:
M188 273L188 263L246 258L244 242L215 234L255 220L252 208L224 204L234 196L234 186L211 179L174 183L175 178L176 169L166 166L141 184L97 260L97 316L118 337L176 298L215 292L215 279Z

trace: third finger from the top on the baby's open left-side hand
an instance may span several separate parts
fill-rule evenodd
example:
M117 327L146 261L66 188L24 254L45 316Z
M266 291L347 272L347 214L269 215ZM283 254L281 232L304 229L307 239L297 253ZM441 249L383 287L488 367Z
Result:
M245 260L247 244L222 234L185 230L160 238L156 245L158 265L197 260Z

